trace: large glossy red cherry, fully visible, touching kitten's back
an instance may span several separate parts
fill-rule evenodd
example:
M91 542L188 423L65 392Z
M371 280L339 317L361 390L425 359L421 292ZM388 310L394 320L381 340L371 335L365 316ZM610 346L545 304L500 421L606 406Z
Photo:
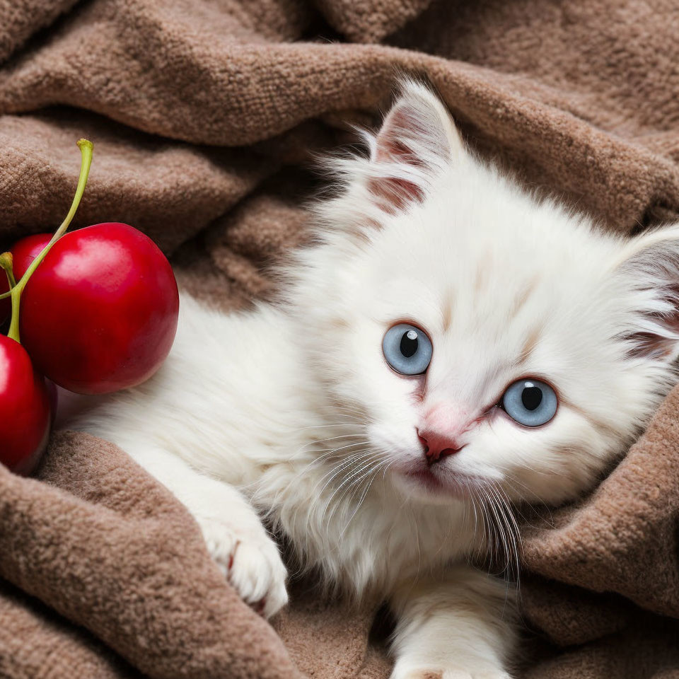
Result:
M153 240L127 224L59 238L21 295L21 342L66 389L100 394L151 377L170 352L179 296Z

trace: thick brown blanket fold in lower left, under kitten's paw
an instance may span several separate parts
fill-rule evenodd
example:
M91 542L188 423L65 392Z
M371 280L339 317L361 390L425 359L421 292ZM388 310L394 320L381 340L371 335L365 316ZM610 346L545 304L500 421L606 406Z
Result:
M54 436L39 480L0 469L0 576L150 677L301 676L187 511L110 443ZM228 649L224 639L238 639ZM219 649L218 652L215 649Z

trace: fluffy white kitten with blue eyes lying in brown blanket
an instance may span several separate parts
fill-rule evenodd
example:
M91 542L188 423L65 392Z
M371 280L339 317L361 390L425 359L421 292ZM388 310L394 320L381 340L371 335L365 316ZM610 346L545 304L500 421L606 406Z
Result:
M76 426L166 484L266 615L286 572L256 512L390 602L394 678L506 677L507 588L466 564L516 550L511 504L591 487L668 390L679 228L622 240L527 195L417 83L367 141L285 301L182 297L161 372Z

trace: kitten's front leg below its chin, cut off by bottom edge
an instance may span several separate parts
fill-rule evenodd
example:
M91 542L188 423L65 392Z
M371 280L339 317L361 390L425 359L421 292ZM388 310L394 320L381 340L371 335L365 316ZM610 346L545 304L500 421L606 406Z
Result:
M455 567L439 581L405 584L392 608L397 626L391 679L509 679L511 586Z

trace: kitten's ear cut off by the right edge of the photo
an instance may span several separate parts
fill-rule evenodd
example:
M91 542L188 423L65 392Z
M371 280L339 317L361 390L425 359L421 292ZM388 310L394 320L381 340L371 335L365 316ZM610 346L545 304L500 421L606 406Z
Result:
M623 248L630 312L629 356L674 361L679 356L679 224L637 236Z

